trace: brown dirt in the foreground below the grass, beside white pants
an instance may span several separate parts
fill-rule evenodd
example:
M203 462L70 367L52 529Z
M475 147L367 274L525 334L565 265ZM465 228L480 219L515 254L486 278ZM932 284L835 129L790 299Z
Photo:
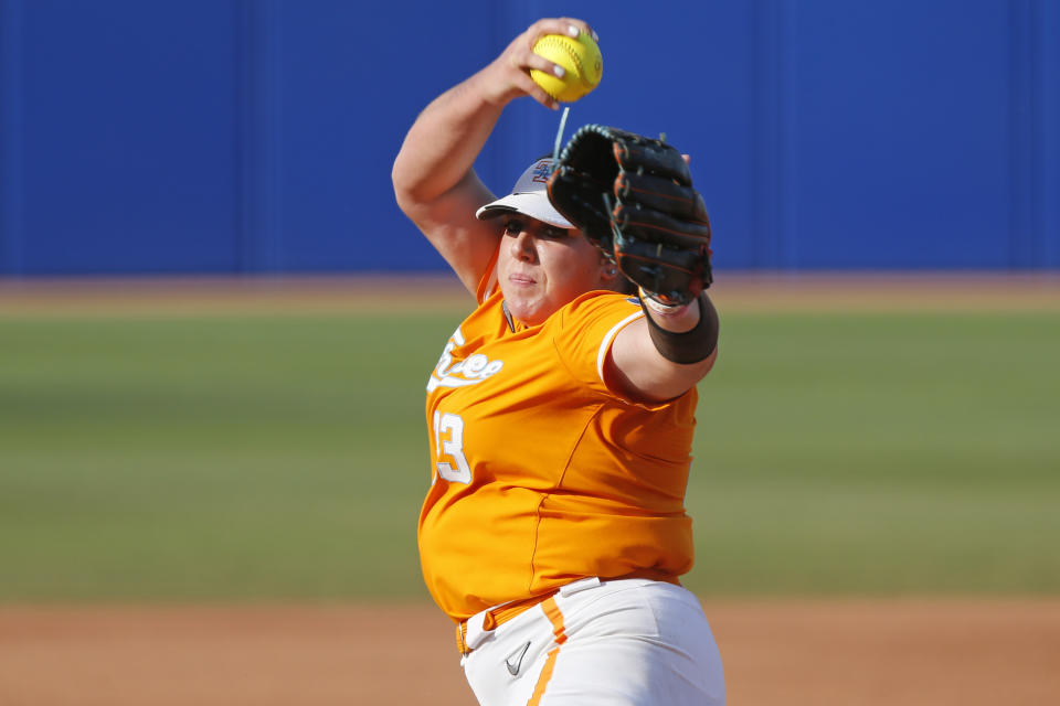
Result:
M732 706L1038 706L1060 600L721 601ZM471 706L428 606L0 608L6 706Z

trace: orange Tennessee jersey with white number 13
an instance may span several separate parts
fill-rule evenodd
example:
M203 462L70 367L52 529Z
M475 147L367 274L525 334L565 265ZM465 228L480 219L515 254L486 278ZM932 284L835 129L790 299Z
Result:
M635 298L589 292L511 331L486 281L427 383L418 543L435 601L464 620L590 576L676 581L692 565L696 388L642 405L608 386Z

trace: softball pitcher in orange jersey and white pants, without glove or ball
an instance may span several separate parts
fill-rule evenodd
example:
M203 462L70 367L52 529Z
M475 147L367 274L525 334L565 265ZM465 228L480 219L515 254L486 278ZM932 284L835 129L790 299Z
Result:
M550 203L550 159L499 200L473 170L510 100L554 107L528 75L553 71L534 41L579 31L531 25L420 115L394 163L400 206L477 301L427 382L423 574L483 705L723 704L717 645L678 580L717 313L706 295L645 308L622 293Z

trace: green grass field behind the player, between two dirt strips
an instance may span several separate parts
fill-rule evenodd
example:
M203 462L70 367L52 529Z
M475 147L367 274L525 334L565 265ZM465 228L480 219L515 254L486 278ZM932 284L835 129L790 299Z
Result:
M459 314L0 320L0 601L425 599ZM723 319L702 595L1060 592L1060 314Z

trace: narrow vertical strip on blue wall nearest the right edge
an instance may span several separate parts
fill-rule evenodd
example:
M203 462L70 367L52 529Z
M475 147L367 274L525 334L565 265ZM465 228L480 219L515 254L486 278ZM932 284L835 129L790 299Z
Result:
M1034 263L1034 62L1030 0L1009 4L1009 266Z

